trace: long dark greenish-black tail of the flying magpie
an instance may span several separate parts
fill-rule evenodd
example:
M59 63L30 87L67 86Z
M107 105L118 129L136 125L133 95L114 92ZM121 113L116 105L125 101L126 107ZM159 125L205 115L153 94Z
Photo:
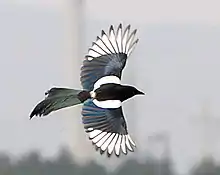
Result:
M62 108L83 103L90 98L90 93L83 90L52 88L45 93L46 98L37 104L30 114L30 119L36 116L45 116Z

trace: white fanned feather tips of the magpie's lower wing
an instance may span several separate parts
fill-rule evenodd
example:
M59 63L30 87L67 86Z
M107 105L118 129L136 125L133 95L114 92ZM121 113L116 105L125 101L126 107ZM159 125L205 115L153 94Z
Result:
M107 133L101 130L89 128L89 138L92 139L92 142L100 149L100 151L106 151L110 156L113 151L116 156L119 156L121 152L124 154L129 151L134 151L136 147L134 141L129 135L123 135L119 133Z

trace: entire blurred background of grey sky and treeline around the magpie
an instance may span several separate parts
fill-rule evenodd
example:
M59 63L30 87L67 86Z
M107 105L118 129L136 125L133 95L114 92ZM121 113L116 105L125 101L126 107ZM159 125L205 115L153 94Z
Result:
M0 175L219 175L218 0L0 0ZM81 88L101 30L131 24L140 39L123 83L134 153L100 156L81 107L29 120L53 86Z

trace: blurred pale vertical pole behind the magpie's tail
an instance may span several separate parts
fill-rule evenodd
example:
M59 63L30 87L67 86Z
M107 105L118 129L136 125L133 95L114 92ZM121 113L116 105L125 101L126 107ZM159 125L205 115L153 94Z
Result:
M68 86L81 89L80 67L83 61L84 48L84 0L66 0L65 19L66 19L66 42L68 48L66 62L66 76ZM87 142L82 119L81 106L74 106L67 111L67 145L74 154L77 161L84 162L90 156L91 145Z

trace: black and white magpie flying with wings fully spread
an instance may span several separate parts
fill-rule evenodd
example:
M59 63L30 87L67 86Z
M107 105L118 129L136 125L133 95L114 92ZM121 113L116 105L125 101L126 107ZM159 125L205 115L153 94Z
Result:
M103 154L111 156L133 152L136 147L128 134L122 111L122 102L135 95L144 95L137 88L121 84L122 70L138 39L137 30L122 24L101 36L88 50L81 67L80 81L83 90L53 87L45 93L45 99L30 114L46 116L62 108L82 104L82 122L85 132Z

